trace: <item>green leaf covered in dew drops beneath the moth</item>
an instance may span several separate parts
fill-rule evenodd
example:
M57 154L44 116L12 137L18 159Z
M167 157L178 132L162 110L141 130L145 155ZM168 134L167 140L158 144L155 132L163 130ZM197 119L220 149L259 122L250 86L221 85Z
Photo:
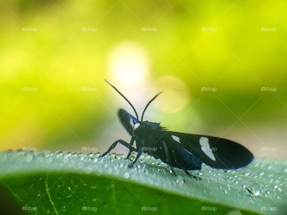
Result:
M28 214L286 214L287 161L256 159L239 170L179 169L120 154L0 152L1 190ZM24 208L24 209L26 209ZM36 210L37 209L37 210ZM144 210L146 209L146 210Z

